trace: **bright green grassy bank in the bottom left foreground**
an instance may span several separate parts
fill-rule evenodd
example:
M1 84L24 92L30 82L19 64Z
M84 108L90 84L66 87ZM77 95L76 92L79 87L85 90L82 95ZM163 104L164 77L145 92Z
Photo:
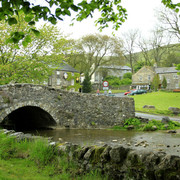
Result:
M46 140L20 141L0 132L0 179L2 180L91 180L105 179L98 173L85 174L58 148Z

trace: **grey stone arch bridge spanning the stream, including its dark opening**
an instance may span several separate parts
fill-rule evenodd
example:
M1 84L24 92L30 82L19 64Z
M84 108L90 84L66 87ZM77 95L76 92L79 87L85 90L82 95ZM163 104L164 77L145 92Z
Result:
M134 116L134 100L129 97L96 96L33 84L0 86L0 125L6 128L107 128Z

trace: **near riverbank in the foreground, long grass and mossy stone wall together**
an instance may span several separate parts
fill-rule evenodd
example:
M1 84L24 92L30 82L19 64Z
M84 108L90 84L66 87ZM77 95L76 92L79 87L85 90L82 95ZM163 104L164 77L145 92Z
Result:
M60 144L7 130L0 138L1 179L180 179L180 156L164 152Z

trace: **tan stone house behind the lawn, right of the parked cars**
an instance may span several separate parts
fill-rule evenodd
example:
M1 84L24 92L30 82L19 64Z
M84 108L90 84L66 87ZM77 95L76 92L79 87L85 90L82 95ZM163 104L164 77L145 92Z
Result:
M159 75L162 83L163 78L167 80L166 89L180 88L180 75L177 74L176 67L150 67L144 66L132 75L132 89L150 89L151 82L155 74ZM159 85L161 87L161 84Z

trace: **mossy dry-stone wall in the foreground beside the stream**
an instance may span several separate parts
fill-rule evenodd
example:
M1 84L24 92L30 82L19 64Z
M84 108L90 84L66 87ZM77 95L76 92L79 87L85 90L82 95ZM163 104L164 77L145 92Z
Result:
M161 152L136 151L128 147L59 146L77 162L80 171L99 171L111 180L180 180L180 156Z

